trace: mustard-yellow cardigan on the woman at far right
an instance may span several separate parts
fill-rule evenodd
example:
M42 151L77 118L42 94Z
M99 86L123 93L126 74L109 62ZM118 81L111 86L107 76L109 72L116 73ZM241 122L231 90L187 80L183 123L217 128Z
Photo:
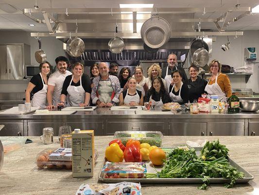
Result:
M208 85L212 85L213 83L215 83L215 80L216 79L214 80L210 79ZM228 76L220 73L218 76L217 83L220 86L221 90L226 94L227 98L229 98L232 95L232 91L231 91L231 85L230 85L230 80Z

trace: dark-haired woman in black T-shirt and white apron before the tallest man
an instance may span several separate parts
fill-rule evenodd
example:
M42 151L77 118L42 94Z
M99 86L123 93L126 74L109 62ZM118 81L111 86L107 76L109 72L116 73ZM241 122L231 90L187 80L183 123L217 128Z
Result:
M170 86L169 96L173 102L178 102L179 104L188 103L189 101L189 91L185 84L182 82L182 73L179 70L175 70L172 73L173 86Z

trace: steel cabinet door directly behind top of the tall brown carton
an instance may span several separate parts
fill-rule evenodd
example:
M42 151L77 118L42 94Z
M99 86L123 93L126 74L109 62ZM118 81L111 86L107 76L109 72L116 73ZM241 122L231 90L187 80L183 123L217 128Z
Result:
M94 130L95 136L103 136L103 122L66 122L66 125L71 126L71 130Z

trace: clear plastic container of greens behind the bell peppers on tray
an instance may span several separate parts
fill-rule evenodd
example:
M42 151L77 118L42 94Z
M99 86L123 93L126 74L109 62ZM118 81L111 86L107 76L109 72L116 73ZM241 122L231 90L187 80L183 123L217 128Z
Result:
M151 146L162 146L163 134L160 131L116 131L114 139L121 139L126 145L129 139L137 139L140 143L149 143Z

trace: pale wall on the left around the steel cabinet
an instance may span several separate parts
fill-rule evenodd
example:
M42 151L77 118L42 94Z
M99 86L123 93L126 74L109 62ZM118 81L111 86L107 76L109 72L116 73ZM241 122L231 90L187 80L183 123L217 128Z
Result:
M29 32L1 31L0 43L25 43L31 46L31 64L38 64L35 60L35 51L39 50L38 41L31 37ZM47 60L55 66L55 58L64 56L63 42L55 37L42 37L41 49L46 53ZM0 93L23 93L29 80L0 80Z

